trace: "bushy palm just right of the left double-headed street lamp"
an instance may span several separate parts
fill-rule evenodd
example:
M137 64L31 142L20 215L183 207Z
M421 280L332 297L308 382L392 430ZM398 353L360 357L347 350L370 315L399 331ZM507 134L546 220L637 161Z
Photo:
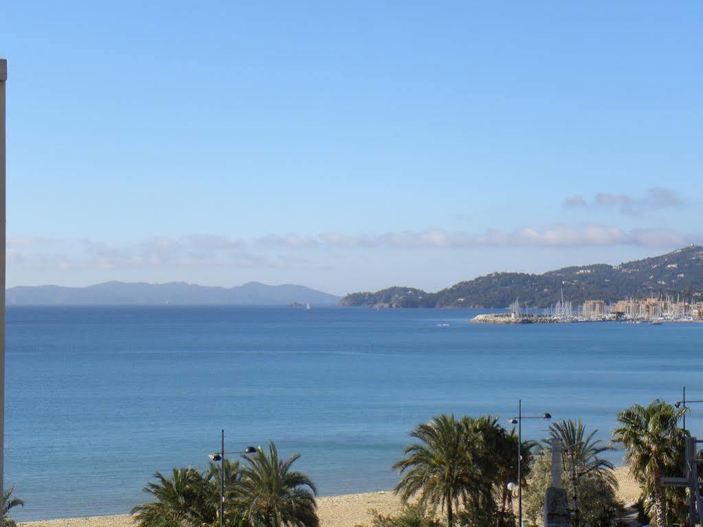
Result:
M273 441L259 447L240 469L236 500L252 525L318 527L317 488L308 476L290 469L299 454L282 460Z

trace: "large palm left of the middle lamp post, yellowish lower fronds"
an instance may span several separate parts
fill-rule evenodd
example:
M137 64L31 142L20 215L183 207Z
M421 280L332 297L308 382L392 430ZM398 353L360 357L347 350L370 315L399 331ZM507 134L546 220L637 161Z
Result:
M420 443L406 446L406 457L394 464L402 474L395 492L404 502L419 494L423 505L430 503L446 510L451 527L454 511L475 479L467 462L467 423L441 414L418 425L410 436Z

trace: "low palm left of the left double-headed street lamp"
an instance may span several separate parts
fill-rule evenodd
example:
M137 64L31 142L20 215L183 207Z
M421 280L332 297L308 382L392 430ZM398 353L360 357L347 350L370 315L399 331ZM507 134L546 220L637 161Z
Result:
M217 519L219 488L192 467L173 469L170 477L154 474L143 489L153 502L131 509L141 527L201 527Z

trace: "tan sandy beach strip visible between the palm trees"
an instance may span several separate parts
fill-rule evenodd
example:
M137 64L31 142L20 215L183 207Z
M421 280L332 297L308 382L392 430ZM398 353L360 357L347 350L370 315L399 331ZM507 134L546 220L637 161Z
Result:
M635 502L640 495L640 489L628 473L628 469L619 467L615 471L619 482L618 495L620 499L626 505ZM375 509L382 514L392 514L401 507L398 497L387 490L374 493L325 496L318 498L317 502L321 527L368 525L371 520L370 509ZM134 527L129 514L30 521L20 523L20 525L22 527Z

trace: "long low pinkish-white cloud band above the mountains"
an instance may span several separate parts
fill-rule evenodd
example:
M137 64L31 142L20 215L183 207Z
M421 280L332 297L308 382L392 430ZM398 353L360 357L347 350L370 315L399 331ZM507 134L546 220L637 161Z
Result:
M519 247L648 247L672 249L699 238L675 230L642 228L624 230L612 226L581 227L555 225L524 227L510 232L484 233L447 230L404 231L349 235L267 235L241 240L215 235L181 238L154 237L124 246L82 240L65 242L47 238L9 238L8 266L42 266L75 270L79 268L158 268L217 266L225 268L285 268L301 254L318 248L334 249L473 249Z

